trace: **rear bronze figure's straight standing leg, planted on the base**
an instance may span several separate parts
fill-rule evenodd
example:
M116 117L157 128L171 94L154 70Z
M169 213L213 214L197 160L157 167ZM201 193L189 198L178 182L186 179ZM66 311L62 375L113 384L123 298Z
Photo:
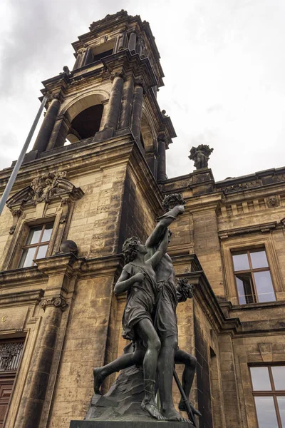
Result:
M172 382L175 351L177 350L177 335L164 337L161 342L158 357L158 382L160 391L160 412L168 421L188 422L188 419L179 414L172 399Z

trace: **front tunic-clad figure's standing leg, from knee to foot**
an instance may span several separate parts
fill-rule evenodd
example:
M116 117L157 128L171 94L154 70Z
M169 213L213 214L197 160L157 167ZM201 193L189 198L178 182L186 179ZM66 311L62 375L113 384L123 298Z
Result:
M147 345L147 350L143 359L145 397L142 400L141 407L150 414L151 417L162 420L164 418L157 409L155 403L155 376L157 370L157 357L160 352L160 339L152 322L147 318L135 325L135 332Z

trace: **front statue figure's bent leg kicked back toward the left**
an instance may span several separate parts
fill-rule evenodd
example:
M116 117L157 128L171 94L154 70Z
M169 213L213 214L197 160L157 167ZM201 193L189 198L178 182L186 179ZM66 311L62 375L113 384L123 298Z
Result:
M142 364L144 355L145 352L142 350L135 350L135 352L120 355L116 360L103 367L95 367L93 370L95 394L101 394L100 386L103 384L106 377L110 376L112 373L120 372L120 370L126 369L132 365Z

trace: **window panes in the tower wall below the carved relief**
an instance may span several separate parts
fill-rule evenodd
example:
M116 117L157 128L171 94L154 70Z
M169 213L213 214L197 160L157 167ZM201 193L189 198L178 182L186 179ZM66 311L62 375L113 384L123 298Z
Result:
M48 243L51 239L53 223L31 228L26 244L22 248L21 259L18 267L33 266L33 260L46 257Z

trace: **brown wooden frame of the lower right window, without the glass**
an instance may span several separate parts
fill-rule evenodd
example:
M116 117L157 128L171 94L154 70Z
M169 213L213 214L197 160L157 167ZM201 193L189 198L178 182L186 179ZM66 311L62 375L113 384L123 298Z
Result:
M252 396L253 397L273 397L274 409L275 409L277 423L279 424L279 428L282 428L282 421L281 421L279 406L278 406L278 402L277 402L276 397L277 396L285 397L285 389L277 389L277 390L275 389L274 377L273 377L272 370L271 370L271 367L280 367L280 366L284 367L284 370L285 370L285 364L282 364L282 363L271 364L271 365L264 365L264 364L249 365L249 378L250 378L250 382L251 382L251 386L252 386ZM252 382L252 372L251 372L251 368L253 368L253 367L266 367L267 368L267 370L269 372L269 380L270 380L270 384L271 384L271 390L269 390L269 391L264 391L264 390L255 391L254 390L254 384ZM257 425L259 426L258 415L257 415L257 406L255 404L255 399L254 399L254 410L255 410L256 417L257 417Z

